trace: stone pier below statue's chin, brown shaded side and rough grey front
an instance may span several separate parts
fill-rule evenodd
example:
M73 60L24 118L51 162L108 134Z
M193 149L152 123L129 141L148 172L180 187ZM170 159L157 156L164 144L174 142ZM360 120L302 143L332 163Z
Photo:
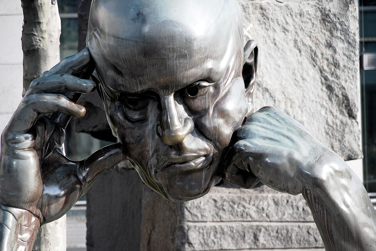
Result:
M183 203L167 202L144 187L141 229L141 250L323 250L303 197L264 185L251 190L216 186Z

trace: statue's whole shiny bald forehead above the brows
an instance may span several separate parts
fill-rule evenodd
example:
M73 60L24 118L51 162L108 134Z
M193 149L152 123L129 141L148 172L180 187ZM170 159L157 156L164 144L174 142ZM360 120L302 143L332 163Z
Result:
M130 93L218 81L243 48L236 4L94 0L87 45L102 81Z

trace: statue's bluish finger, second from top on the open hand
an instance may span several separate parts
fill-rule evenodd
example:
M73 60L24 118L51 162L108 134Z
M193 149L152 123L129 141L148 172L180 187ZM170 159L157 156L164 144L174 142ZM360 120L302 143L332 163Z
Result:
M67 73L45 76L33 80L26 95L38 93L63 93L71 91L75 93L91 93L96 84L88 79L80 79Z

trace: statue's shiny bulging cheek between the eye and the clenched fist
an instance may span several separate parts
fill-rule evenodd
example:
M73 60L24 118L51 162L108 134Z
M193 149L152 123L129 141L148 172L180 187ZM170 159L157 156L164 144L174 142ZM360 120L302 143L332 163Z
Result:
M214 105L195 120L195 126L214 142L217 149L223 149L229 144L232 133L243 123L246 113L244 82L237 78Z

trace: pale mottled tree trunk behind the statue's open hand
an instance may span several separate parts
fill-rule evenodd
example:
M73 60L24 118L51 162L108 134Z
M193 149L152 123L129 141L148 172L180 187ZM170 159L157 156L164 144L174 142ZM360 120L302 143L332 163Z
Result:
M23 95L31 81L59 61L61 22L58 5L51 0L21 0L24 15L22 31ZM65 251L66 217L39 229L33 250Z

